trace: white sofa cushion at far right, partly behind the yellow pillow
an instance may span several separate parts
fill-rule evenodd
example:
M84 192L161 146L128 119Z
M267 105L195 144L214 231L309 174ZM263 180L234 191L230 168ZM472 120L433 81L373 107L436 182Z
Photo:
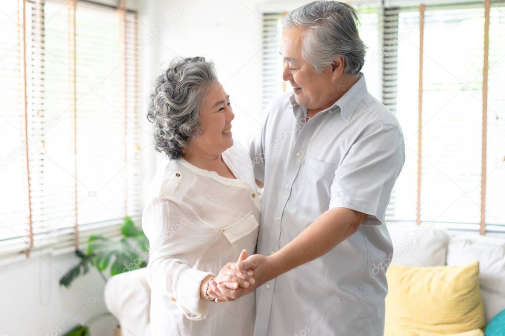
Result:
M505 238L465 234L450 239L447 264L480 263L480 288L489 321L505 309Z

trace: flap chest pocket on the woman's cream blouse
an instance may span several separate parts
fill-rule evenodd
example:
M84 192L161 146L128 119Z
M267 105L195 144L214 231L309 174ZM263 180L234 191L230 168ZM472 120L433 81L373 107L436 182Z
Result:
M232 244L235 253L240 253L242 249L246 249L250 255L255 253L258 230L258 221L254 214L249 212L242 219L226 226L221 231Z

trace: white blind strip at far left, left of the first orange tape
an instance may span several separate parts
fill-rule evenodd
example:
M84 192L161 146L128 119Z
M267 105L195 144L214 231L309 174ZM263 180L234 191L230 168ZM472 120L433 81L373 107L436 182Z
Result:
M30 245L22 2L4 2L0 17L0 250L16 254Z

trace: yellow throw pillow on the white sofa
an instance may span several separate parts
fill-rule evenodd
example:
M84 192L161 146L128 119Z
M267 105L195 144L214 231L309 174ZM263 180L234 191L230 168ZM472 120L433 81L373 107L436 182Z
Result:
M390 265L385 335L483 335L479 263L463 266ZM480 331L480 333L479 333Z

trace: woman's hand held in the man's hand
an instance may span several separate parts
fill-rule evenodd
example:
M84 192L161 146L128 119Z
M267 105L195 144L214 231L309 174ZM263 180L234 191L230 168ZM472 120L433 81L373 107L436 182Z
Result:
M242 250L237 262L245 260L246 258L247 251ZM221 268L219 274L211 281L207 294L211 298L216 298L216 302L233 301L238 298L238 296L234 294L236 290L239 288L249 288L256 282L254 277L252 277L253 275L254 272L251 270L238 271L235 267L235 262L228 262L223 268ZM204 297L201 296L202 290L206 282L210 279L211 277L208 277L201 282L200 297ZM205 295L205 293L203 294Z

